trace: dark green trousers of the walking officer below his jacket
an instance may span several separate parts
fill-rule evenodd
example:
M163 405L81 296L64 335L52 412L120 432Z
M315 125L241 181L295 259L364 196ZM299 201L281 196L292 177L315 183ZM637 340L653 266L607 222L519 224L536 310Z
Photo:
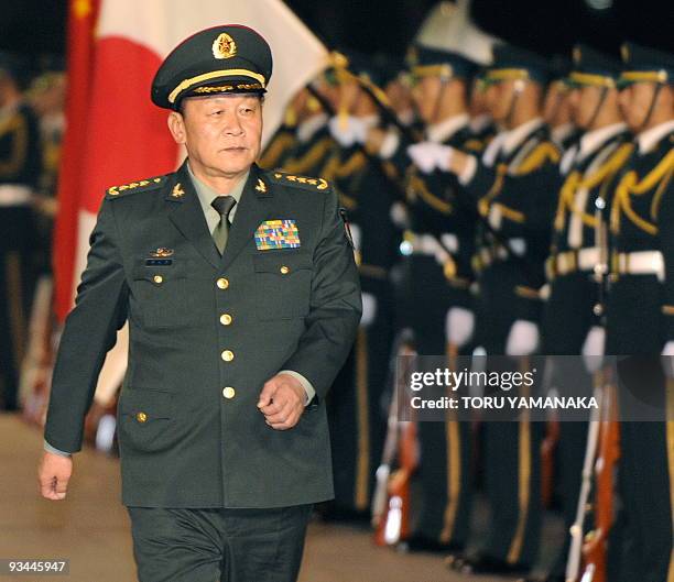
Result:
M295 582L312 504L127 509L139 582Z

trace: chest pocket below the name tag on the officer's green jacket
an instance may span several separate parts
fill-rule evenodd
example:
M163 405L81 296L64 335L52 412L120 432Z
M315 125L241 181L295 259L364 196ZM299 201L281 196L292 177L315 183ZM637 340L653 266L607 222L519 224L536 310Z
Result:
M133 265L132 292L148 328L175 328L188 323L187 263L172 260L168 264Z

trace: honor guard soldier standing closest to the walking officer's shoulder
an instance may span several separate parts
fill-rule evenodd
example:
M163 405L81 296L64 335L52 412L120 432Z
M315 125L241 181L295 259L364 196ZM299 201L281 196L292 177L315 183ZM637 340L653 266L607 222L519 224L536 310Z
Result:
M377 96L385 83L385 72L362 55L348 53L346 58L348 64L345 62L344 70L337 75L338 113L329 120L339 149L328 157L323 177L334 184L349 213L363 311L354 349L335 380L328 403L335 504L326 508L324 517L369 519L374 470L387 430L381 400L393 339L389 273L399 257L398 231L391 221L395 188L381 161L367 155L354 135L356 127L365 132L379 124Z

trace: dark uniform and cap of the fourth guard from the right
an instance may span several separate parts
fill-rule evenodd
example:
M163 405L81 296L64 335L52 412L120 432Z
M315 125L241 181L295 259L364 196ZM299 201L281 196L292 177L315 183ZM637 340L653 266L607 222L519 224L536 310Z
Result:
M474 63L452 52L414 47L410 56L413 77L437 75L467 79ZM467 113L426 128L426 139L466 149L472 139ZM390 163L405 184L409 230L401 252L402 304L400 325L414 331L420 355L447 356L470 353L469 345L452 345L446 336L450 308L472 310L471 256L474 219L459 197L456 179L447 173L422 173L410 164L405 140L390 155ZM415 527L411 549L455 550L466 545L470 518L470 425L459 422L448 410L445 422L420 422L421 498L412 506Z

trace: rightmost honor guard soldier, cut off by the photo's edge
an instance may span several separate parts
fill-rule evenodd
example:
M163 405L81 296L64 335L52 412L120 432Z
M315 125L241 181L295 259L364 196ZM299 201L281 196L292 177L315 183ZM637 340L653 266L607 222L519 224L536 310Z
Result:
M662 414L657 421L620 424L619 492L626 525L617 568L621 582L672 582L674 55L628 43L622 56L620 103L635 140L611 206L607 353L634 355L628 364L648 365L638 377L626 373L620 380ZM623 396L621 418L630 420Z

